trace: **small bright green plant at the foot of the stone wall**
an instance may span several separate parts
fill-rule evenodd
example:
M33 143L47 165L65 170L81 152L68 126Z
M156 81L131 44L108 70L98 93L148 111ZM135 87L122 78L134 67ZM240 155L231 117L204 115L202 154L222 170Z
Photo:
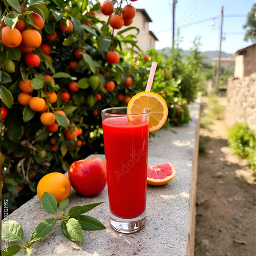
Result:
M237 123L228 132L228 145L235 154L246 158L256 174L256 136L248 124Z

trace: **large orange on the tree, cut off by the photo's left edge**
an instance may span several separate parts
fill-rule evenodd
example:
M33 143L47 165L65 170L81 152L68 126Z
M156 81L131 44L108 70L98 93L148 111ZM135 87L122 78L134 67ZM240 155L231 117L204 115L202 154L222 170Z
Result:
M9 27L2 28L2 44L4 46L15 48L20 45L22 39L22 34L16 28L12 30Z

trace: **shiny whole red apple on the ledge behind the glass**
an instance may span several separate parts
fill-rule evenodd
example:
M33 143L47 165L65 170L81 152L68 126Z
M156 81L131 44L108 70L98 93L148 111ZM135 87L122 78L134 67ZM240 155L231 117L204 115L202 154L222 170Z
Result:
M98 195L106 185L106 165L99 157L78 160L69 167L69 180L78 194Z

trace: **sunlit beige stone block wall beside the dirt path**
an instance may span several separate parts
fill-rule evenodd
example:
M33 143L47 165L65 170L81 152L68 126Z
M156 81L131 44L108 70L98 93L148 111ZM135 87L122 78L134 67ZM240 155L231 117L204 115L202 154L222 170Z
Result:
M228 79L225 122L228 126L246 122L256 129L255 73L242 79Z

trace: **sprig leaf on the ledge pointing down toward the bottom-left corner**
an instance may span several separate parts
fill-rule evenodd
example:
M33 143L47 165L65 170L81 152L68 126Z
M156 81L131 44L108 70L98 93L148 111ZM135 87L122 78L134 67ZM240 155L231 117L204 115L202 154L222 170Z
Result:
M45 236L47 236L47 234L49 234L52 231L55 224L56 224L56 219L54 218L41 221L36 226L35 230L32 232L29 243L39 241Z

